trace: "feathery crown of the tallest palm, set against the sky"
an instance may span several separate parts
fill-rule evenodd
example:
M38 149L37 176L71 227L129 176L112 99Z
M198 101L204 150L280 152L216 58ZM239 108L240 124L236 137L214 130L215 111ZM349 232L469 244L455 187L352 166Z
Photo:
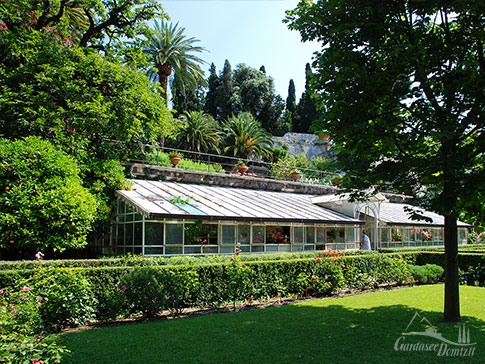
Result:
M206 63L192 53L203 52L204 48L195 45L200 42L198 39L187 38L184 34L185 28L167 24L161 20L155 21L155 28L147 35L148 44L143 47L143 52L152 58L156 72L150 75L160 82L162 97L167 100L168 77L172 70L184 74L184 84L187 87L195 88L197 81L204 83L204 72L199 64Z

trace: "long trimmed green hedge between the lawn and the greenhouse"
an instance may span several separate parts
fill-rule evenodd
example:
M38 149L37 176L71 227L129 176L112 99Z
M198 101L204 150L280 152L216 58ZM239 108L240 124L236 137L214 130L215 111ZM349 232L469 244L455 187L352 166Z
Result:
M143 279L151 282L152 276L162 277L164 283L155 285L152 291L165 297L164 309L180 312L185 307L214 307L276 296L318 297L345 287L366 289L379 284L404 282L410 279L407 262L412 259L376 253L348 257L339 254L324 257L320 254L310 259L251 262L236 257L232 262L144 267L147 271L141 276L138 274L136 279L145 277ZM134 279L130 277L134 277L136 269L140 267L74 268L82 272L90 283L94 295L93 309L98 319L128 316L140 309L137 302L130 300L130 297L140 295L126 293L135 289L129 279ZM49 270L55 272L56 268ZM63 268L58 270L61 272ZM35 271L37 269L0 271L0 287L14 286L19 279L29 278ZM153 311L144 313L154 315Z

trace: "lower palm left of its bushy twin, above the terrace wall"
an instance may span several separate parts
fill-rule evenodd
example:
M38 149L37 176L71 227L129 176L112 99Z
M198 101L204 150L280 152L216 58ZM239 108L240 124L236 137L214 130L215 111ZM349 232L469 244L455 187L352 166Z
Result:
M179 120L182 124L177 137L180 148L203 153L219 152L221 133L212 116L200 111L186 111Z

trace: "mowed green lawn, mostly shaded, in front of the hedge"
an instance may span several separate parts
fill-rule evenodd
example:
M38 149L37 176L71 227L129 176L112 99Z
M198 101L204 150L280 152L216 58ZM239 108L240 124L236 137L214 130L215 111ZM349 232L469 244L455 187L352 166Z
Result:
M62 334L72 350L66 363L484 363L485 288L460 287L462 322L472 357L395 351L416 312L445 338L457 323L443 322L443 285L365 293L337 299ZM406 342L436 343L409 337Z

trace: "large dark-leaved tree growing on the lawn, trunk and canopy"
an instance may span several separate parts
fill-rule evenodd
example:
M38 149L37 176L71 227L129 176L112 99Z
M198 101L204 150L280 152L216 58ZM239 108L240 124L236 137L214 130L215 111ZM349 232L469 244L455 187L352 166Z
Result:
M349 187L417 195L445 216L447 321L459 319L457 216L483 196L482 1L301 1L288 12L318 40L312 79L324 126L353 158Z

